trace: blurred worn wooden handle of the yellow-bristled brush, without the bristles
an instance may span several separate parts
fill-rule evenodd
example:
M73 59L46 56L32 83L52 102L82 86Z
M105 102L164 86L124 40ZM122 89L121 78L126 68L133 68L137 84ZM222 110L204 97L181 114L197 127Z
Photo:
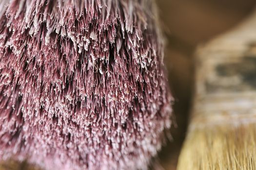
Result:
M196 56L193 122L256 121L256 13Z

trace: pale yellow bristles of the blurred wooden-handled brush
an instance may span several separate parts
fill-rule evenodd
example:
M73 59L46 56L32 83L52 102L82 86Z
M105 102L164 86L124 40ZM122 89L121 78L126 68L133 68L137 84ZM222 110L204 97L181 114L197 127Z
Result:
M177 170L256 170L256 124L221 124L193 129Z

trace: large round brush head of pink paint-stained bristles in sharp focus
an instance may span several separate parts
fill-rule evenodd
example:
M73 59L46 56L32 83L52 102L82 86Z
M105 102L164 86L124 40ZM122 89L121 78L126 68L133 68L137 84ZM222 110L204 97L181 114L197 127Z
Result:
M154 3L9 0L2 10L0 158L146 169L171 123Z

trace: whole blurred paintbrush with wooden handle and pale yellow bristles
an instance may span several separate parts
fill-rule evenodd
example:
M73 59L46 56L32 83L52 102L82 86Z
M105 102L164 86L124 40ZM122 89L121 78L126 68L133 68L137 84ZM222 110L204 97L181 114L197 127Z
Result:
M178 170L256 169L256 13L198 48Z

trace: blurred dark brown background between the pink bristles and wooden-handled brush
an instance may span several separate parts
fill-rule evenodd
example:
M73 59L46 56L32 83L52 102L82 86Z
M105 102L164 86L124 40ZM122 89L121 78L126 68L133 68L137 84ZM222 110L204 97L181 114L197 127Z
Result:
M176 99L173 141L159 153L164 170L176 170L193 95L193 54L200 43L234 28L254 10L256 0L156 0L167 39L165 64Z

